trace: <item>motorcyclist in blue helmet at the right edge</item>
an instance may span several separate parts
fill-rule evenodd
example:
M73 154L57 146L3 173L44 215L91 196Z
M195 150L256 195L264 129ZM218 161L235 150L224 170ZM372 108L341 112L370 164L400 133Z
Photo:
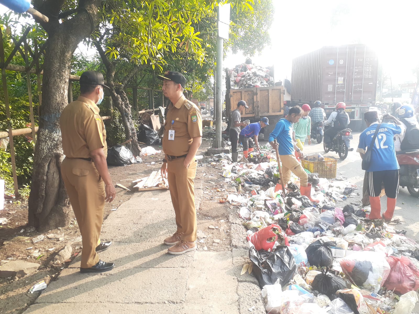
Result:
M409 141L404 141L406 136L409 136L410 132L418 132L417 130L413 131L414 128L419 129L419 124L414 117L414 109L411 105L403 105L396 110L396 115L398 119L394 116L391 118L395 121L401 121L401 128L404 129L400 136L396 136L396 140L394 142L394 148L396 152L400 152L404 149L419 149L418 141L416 143L409 143ZM414 134L414 139L417 137ZM418 139L419 140L419 139ZM404 142L403 142L404 141Z

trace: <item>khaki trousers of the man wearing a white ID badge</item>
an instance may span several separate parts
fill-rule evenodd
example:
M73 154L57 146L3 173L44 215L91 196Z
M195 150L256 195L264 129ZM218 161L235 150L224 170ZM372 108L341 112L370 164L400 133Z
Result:
M197 211L195 209L194 179L197 174L197 161L186 169L184 158L167 161L167 180L170 196L176 215L177 231L182 233L183 241L197 239Z

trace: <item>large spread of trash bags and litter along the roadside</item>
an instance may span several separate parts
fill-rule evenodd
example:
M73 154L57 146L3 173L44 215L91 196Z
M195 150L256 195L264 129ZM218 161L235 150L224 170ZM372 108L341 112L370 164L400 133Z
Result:
M418 301L419 245L394 223L369 220L352 204L357 186L309 173L312 203L292 177L282 191L276 160L232 164L220 156L225 182L247 230L252 273L266 311L279 314L411 314ZM354 202L356 203L356 202ZM358 204L358 203L356 203Z

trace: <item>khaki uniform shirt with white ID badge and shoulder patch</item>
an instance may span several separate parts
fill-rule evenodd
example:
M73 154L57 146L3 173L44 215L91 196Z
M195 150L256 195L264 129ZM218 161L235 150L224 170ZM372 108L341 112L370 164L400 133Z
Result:
M172 124L173 121L173 124ZM174 141L169 140L169 130L175 131ZM164 124L163 152L166 155L182 156L189 152L192 138L202 136L201 111L182 95L173 105L170 103Z

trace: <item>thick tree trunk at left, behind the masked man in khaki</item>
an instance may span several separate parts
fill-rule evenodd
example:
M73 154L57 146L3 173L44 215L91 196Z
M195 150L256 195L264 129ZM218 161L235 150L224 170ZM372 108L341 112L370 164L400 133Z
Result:
M89 35L91 19L96 20L99 2L84 1L86 10L64 23L59 23L57 18L52 17L49 23L43 24L49 35L49 45L44 58L46 61L42 84L42 107L34 152L28 212L29 225L39 230L55 229L67 226L71 222L72 210L60 172L64 155L59 116L68 103L68 77L72 54L80 41ZM59 6L58 2L55 4ZM46 7L52 10L51 5ZM57 11L51 14L59 12L60 8L55 8ZM45 11L45 14L48 14L47 12Z

